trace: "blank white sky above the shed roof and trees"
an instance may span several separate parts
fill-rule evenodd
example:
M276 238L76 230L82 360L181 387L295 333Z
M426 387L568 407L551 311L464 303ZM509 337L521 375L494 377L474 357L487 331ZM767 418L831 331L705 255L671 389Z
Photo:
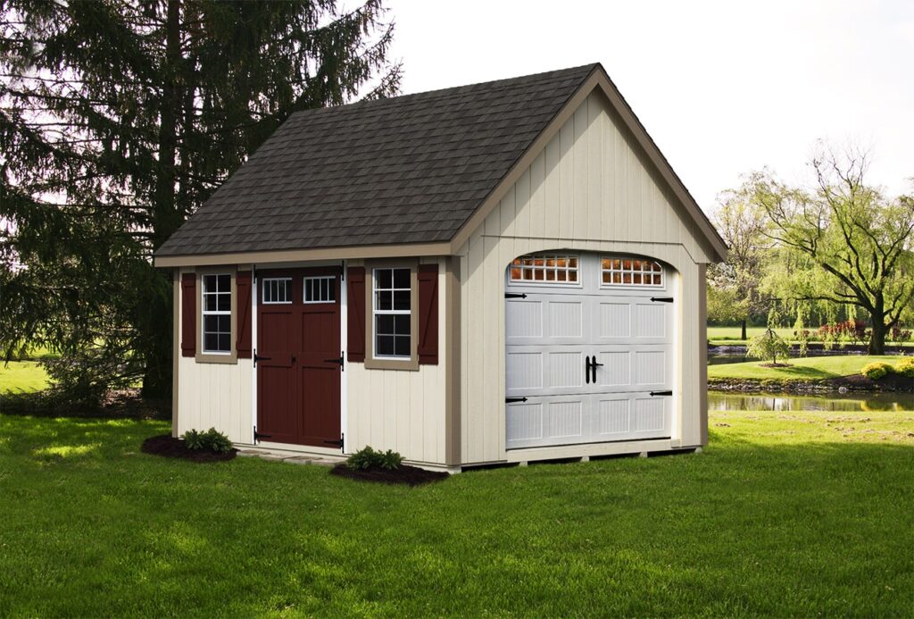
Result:
M914 0L388 0L404 93L599 61L696 200L816 139L871 149L914 190Z

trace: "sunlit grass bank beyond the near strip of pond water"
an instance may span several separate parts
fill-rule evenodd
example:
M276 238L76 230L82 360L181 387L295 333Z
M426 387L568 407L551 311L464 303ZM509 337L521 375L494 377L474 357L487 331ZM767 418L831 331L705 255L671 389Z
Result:
M787 368L765 368L768 361L724 363L707 367L708 379L758 379L758 380L821 380L859 374L860 369L873 361L885 361L891 366L898 363L898 355L835 355L834 357L801 357L787 361Z

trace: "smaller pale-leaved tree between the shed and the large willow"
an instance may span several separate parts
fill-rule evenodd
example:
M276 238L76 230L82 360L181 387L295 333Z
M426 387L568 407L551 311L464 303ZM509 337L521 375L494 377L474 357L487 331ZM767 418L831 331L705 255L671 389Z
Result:
M749 182L722 195L714 222L730 251L726 262L708 269L708 316L739 321L742 339L747 338L749 315L767 309L760 282L771 248L766 234L771 224L765 210L753 200L753 190Z

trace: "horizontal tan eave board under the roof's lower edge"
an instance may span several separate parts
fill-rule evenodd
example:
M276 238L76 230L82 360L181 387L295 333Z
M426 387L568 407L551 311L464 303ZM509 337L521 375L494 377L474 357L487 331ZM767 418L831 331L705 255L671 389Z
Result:
M207 253L186 256L156 256L155 266L211 266L218 264L259 264L315 260L352 260L377 258L408 258L414 256L441 256L450 253L451 244L406 243L398 245L366 245L364 247L330 247L316 250L247 251L233 253Z

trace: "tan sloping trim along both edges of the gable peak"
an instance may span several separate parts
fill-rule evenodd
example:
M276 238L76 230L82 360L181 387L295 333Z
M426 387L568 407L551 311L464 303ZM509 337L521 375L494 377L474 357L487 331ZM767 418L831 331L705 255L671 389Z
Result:
M448 254L456 254L460 250L463 243L473 234L473 231L478 229L485 221L485 218L487 218L493 209L498 206L499 201L505 197L505 193L507 193L508 189L514 186L520 176L524 174L526 168L533 164L533 160L537 158L537 155L546 148L546 145L556 136L562 125L568 122L569 118L574 115L574 112L577 111L580 104L583 103L595 89L600 89L610 102L613 110L619 114L622 123L632 132L632 135L635 137L639 146L641 146L644 154L647 155L648 159L654 165L661 178L664 179L666 185L673 191L673 194L679 202L682 203L685 211L696 222L698 229L704 234L711 249L715 251L717 259L719 261L727 260L727 244L720 238L720 235L717 234L717 229L715 229L707 219L704 211L702 211L696 203L695 198L689 194L679 176L676 176L669 162L666 161L666 158L660 152L660 149L657 148L657 144L654 144L654 140L644 129L641 121L639 121L638 117L632 112L632 108L629 107L628 102L622 98L622 93L619 92L615 87L615 84L612 83L609 76L601 67L594 70L593 73L590 74L590 77L581 84L578 91L571 96L565 106L556 114L555 118L547 124L542 133L533 141L533 144L530 144L529 148L526 149L524 155L521 155L511 170L492 190L492 193L485 198L482 206L477 208L473 213L473 216L463 224L460 230L458 230L451 241L450 251L447 251Z

